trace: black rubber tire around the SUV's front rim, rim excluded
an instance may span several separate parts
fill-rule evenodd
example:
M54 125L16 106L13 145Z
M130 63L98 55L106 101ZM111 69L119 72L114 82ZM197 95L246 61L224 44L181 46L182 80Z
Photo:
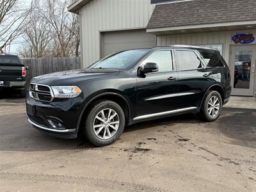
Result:
M107 140L102 140L100 138L98 138L95 134L95 132L93 131L93 123L94 123L94 119L95 116L102 110L102 109L113 109L116 111L116 113L119 116L119 120L120 120L120 124L118 127L117 132L115 133L115 135ZM85 124L85 133L86 133L86 138L93 144L99 147L102 146L106 146L106 145L110 145L111 143L114 143L116 140L118 140L118 138L120 137L120 135L122 134L122 132L124 131L124 127L125 127L125 115L124 115L124 111L122 110L122 108L116 104L115 102L111 102L111 101L103 101L100 102L98 104L96 104L92 110L90 111L90 113L88 114L87 120L86 120L86 124Z

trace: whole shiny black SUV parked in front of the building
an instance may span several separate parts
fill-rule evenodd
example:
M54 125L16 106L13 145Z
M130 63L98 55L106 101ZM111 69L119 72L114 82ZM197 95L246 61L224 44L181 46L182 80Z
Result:
M230 71L220 52L172 46L131 49L88 68L32 79L29 122L61 138L81 134L97 146L127 125L182 113L212 122L230 97Z

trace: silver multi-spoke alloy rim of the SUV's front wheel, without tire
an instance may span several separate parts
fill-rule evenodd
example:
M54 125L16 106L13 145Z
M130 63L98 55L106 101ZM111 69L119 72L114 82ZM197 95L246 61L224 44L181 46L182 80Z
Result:
M93 131L102 140L112 138L118 131L120 119L114 109L102 109L94 118Z

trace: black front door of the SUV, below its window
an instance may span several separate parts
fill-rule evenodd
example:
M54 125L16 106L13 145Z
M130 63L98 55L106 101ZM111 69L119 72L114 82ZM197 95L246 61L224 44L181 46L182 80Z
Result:
M169 77L178 77L177 72L147 74L138 78L137 116L178 109L179 84Z

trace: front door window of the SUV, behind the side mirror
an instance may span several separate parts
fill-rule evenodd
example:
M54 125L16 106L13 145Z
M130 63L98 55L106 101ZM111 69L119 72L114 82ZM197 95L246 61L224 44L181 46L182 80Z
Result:
M143 64L148 62L157 63L159 68L158 72L169 72L173 70L171 51L153 52L146 60L143 61Z

